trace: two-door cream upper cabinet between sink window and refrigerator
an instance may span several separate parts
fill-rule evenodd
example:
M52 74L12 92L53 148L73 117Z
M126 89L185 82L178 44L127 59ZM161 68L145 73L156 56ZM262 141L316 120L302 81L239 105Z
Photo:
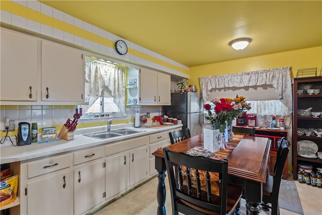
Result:
M171 76L147 68L140 70L141 105L170 105Z

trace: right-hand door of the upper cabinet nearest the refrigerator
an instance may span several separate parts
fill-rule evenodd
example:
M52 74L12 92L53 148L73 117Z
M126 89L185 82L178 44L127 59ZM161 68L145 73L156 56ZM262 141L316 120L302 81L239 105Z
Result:
M157 103L171 104L171 76L157 73Z

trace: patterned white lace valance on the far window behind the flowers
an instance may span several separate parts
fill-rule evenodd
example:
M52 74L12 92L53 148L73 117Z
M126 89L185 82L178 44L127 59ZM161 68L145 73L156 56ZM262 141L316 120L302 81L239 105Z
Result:
M280 67L268 70L251 71L249 73L237 73L200 78L200 87L202 89L202 96L204 100L208 100L209 91L211 89L251 87L261 85L272 85L279 95L279 101L281 101L287 107L286 114L290 115L292 113L293 97L290 67Z

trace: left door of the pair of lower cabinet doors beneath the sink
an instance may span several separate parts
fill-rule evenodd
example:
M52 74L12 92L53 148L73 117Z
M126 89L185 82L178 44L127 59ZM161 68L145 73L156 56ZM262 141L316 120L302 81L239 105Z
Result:
M129 187L129 153L109 156L106 161L106 199Z

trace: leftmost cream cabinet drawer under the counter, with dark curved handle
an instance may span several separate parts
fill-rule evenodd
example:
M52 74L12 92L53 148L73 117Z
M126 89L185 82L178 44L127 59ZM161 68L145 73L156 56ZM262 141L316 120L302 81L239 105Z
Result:
M32 178L69 166L69 154L30 162L27 164L27 177Z

